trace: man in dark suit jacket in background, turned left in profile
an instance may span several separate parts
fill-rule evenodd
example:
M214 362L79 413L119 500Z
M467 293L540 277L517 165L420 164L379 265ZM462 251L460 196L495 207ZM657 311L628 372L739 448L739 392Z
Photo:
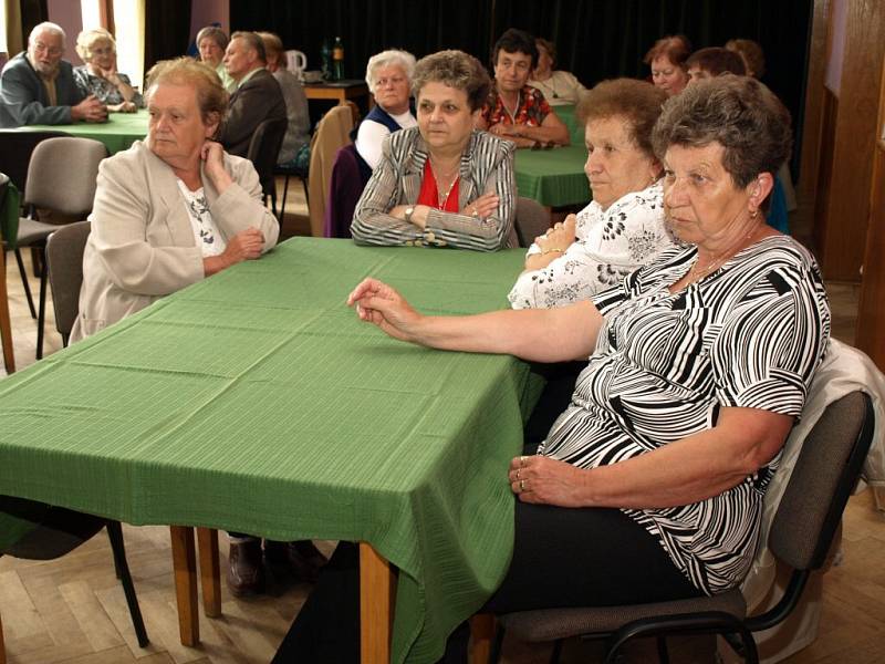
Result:
M254 32L235 32L225 52L225 69L237 82L218 141L239 157L249 151L258 125L266 120L287 120L280 84L266 68L264 42Z

